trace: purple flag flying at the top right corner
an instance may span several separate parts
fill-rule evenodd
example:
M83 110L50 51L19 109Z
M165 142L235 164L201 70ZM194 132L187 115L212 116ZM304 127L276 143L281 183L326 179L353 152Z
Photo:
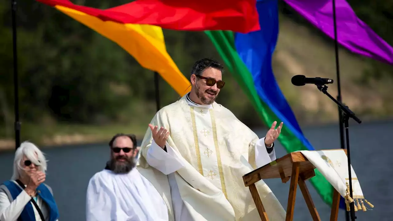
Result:
M332 0L284 0L334 39ZM360 20L345 0L336 0L337 41L351 52L393 64L393 48Z

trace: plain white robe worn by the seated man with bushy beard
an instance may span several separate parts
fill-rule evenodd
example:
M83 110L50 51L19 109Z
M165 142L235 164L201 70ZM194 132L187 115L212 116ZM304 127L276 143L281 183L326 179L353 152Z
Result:
M167 206L137 169L116 174L104 169L88 184L86 221L168 221Z

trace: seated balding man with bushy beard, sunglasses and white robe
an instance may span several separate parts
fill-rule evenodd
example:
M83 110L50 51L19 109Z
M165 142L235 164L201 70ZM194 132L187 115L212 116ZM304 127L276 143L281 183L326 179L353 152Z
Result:
M136 137L116 134L110 161L88 184L87 221L167 221L168 209L154 186L135 169Z

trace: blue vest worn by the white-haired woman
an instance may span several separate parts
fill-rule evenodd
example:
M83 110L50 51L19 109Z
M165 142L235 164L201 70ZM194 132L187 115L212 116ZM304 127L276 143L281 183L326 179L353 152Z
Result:
M17 196L23 191L18 184L11 180L8 180L3 184L8 188L8 191L11 193L13 200L15 200ZM45 184L40 184L37 187L37 194L48 205L49 221L55 221L56 219L58 219L59 210L57 209L57 204L55 202L55 199L53 198L52 193L45 186ZM22 210L18 221L35 221L33 205L30 202L31 201L29 201L29 203L26 204L26 206Z

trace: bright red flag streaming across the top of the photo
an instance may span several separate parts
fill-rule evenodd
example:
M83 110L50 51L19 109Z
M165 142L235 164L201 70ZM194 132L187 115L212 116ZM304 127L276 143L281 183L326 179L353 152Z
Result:
M230 30L240 33L260 29L256 0L136 0L109 9L79 6L69 0L37 1L52 7L68 7L104 21L123 24L151 24L187 31Z

